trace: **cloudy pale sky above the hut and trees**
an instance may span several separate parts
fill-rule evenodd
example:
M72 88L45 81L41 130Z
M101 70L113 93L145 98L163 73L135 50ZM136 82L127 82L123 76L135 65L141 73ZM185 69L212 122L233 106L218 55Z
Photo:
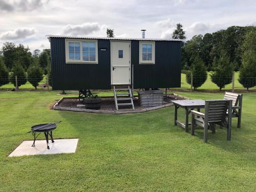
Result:
M171 38L181 23L187 39L229 26L256 25L256 0L0 0L3 42L49 49L46 35Z

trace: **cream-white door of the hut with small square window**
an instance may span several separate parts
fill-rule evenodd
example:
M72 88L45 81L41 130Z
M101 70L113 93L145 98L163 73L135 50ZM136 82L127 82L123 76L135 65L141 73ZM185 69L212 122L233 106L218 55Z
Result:
M131 84L130 42L111 41L111 83Z

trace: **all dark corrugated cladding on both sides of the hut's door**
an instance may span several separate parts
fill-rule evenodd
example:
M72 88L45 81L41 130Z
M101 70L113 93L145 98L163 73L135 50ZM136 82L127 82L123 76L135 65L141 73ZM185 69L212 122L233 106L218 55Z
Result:
M109 39L98 39L98 64L66 63L65 54L65 38L51 37L53 90L111 89ZM155 64L139 64L139 40L132 40L131 64L135 89L179 88L181 42L155 41Z

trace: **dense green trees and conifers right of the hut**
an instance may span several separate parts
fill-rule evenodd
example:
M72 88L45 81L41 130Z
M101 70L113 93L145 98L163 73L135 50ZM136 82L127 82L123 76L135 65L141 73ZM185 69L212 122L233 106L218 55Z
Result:
M231 26L205 35L195 35L186 41L181 24L173 32L173 38L182 39L182 70L187 83L193 74L194 90L207 80L220 88L231 83L234 71L240 71L239 82L247 90L256 86L256 27Z

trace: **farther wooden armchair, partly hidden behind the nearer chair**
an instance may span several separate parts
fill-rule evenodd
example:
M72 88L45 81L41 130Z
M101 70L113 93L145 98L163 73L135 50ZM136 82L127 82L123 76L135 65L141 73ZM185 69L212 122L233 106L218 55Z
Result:
M243 95L238 93L225 92L224 99L232 100L232 117L238 118L238 128L240 128Z

